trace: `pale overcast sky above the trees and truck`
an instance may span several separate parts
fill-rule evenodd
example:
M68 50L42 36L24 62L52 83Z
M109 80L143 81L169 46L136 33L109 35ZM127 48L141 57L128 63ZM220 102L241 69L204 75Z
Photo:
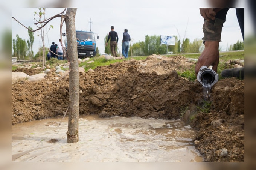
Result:
M22 0L21 0L22 1ZM182 8L184 0L175 1L175 5L169 6L159 5L162 0L157 1L157 7L152 7L156 1L148 0L144 1L147 4L142 4L137 1L139 5L131 5L130 1L114 1L113 8L107 8L110 6L108 1L98 0L94 1L91 5L81 4L73 0L73 5L78 6L76 12L76 30L90 30L90 18L92 20L92 31L99 35L99 40L96 42L96 46L99 48L100 53L104 53L104 38L110 31L110 26L115 27L115 31L119 36L118 47L121 49L121 40L124 29L128 29L128 33L131 36L132 44L145 41L146 35L177 35L178 38L189 38L190 42L194 39L201 39L203 37L203 18L200 15L199 7L195 6L192 2L200 2L202 0L188 1L191 3L191 7ZM47 0L46 0L47 2ZM99 5L96 2L100 2ZM241 1L244 2L244 1ZM81 6L81 7L80 7ZM106 6L104 8L104 6ZM144 6L144 7L143 7ZM166 8L160 8L158 6L165 6ZM189 6L186 4L185 6ZM244 3L239 3L239 6L245 6ZM59 12L62 12L64 8L46 8L46 18L49 18ZM12 17L15 17L25 26L30 26L33 29L36 22L34 20L34 11L38 12L38 8L12 8ZM246 11L246 10L245 10ZM247 15L247 14L245 14ZM247 17L248 19L248 17ZM12 19L12 39L16 39L18 34L22 39L29 39L27 30L21 26L17 21ZM53 29L49 30L45 37L45 45L49 47L52 42L58 42L60 38L60 18L55 18L50 22L53 25ZM245 20L246 25L246 20ZM47 26L49 28L49 26ZM247 29L245 28L245 32ZM66 32L65 25L62 28L62 32ZM37 32L34 33L35 40L33 44L33 51L36 53L38 48L42 45L41 39L37 36ZM230 8L226 23L222 29L222 42L220 43L221 49L226 51L227 45L235 44L238 40L242 41L241 31L236 19L235 8Z

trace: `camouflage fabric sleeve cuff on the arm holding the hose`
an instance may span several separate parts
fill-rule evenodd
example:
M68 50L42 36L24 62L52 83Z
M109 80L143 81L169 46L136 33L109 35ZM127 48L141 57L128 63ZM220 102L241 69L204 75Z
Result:
M204 20L203 24L203 41L221 41L221 31L225 20L215 18L215 20Z

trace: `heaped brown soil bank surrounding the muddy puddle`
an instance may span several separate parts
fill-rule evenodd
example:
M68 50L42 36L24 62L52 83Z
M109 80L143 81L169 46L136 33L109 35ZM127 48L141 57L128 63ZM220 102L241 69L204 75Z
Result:
M80 73L80 114L180 119L198 129L206 162L244 162L244 80L219 80L206 111L200 83L178 76L194 65L182 56L130 59ZM12 85L12 124L62 117L69 107L69 76ZM208 112L208 113L207 113ZM227 154L221 149L227 149Z

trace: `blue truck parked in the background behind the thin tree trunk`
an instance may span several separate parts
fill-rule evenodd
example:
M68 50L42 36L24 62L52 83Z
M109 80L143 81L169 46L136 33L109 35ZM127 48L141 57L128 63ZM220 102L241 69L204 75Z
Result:
M99 36L97 36L97 39L99 39ZM93 32L76 30L76 42L78 58L94 57L96 55L96 39Z

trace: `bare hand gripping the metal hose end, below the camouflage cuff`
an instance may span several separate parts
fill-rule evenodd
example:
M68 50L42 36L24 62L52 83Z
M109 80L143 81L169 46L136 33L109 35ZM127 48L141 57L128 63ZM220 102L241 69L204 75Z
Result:
M219 42L218 41L205 41L204 51L201 53L195 65L195 74L197 75L201 66L212 65L212 69L217 72L219 64Z

